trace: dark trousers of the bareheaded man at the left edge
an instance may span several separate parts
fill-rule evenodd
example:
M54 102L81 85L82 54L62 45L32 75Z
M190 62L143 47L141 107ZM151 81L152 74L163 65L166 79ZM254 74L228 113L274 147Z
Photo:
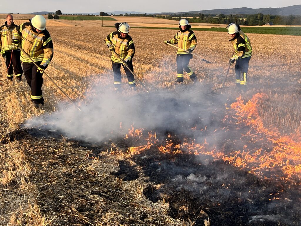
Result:
M15 50L14 51L5 51L5 58L6 58L6 68L7 70L7 77L12 79L14 74L13 74L13 67L14 67L14 73L16 77L22 77L23 70L21 67L21 62L20 62L20 55L21 51L20 50ZM9 67L8 67L9 66Z

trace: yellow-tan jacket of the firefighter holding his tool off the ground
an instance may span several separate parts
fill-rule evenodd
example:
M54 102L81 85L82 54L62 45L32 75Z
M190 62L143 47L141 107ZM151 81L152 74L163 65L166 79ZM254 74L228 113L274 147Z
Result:
M195 36L194 32L192 30L189 30L191 28L191 25L187 25L185 30L180 29L178 33L175 34L173 39L170 39L170 44L177 44L178 47L188 50L194 50L197 46L197 37ZM178 49L177 54L190 54L188 52L185 52L181 49Z

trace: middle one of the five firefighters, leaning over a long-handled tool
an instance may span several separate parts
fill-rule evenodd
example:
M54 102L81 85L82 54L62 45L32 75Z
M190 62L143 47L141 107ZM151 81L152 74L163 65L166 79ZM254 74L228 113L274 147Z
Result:
M112 52L111 61L114 73L114 89L119 91L121 89L121 73L120 68L123 66L126 76L129 81L131 89L136 90L136 81L134 75L129 71L127 66L134 71L132 58L135 54L135 45L131 36L129 36L129 24L116 23L117 31L110 33L106 37L106 44ZM119 57L120 59L119 59Z

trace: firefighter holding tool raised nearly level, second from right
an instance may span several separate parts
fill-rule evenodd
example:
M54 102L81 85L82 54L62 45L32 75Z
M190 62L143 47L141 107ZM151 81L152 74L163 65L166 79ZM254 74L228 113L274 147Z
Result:
M185 52L181 49L178 49L177 52L177 83L183 83L184 82L184 70L190 77L192 81L197 81L197 77L194 74L191 67L189 67L189 61L192 59L192 55L190 54L195 47L197 46L197 38L194 35L194 32L190 30L191 25L189 25L188 20L181 19L179 21L179 28L180 30L178 33L175 34L173 39L164 41L165 44L171 43L171 44L177 44L178 47L188 50L188 52Z

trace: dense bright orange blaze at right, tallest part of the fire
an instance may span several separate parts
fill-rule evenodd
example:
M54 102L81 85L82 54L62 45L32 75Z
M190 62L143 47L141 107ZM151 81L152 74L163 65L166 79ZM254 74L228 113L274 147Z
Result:
M252 99L244 104L241 96L237 98L237 102L231 104L231 108L237 111L237 124L244 123L250 126L251 130L247 135L259 136L260 139L267 139L273 144L272 151L262 150L262 148L251 152L242 153L240 156L238 151L235 155L225 156L223 159L233 163L237 167L250 167L252 173L258 174L261 170L270 170L279 167L287 179L293 176L300 177L301 172L301 142L300 134L290 136L281 136L276 128L265 128L262 119L257 111L257 102L259 99L266 98L266 94L257 93ZM262 138L262 136L264 136ZM293 165L290 164L293 162ZM299 178L300 179L300 178Z

